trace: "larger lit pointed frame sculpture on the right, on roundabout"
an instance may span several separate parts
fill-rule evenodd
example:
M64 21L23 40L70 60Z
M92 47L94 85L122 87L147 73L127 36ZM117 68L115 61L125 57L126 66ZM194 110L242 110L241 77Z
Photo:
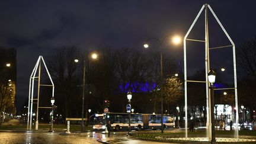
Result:
M208 31L208 8L210 9L210 12L212 12L213 16L215 17L215 20L217 21L217 23L220 25L220 27L222 28L223 32L225 33L226 37L228 37L229 41L231 42L231 45L228 46L219 46L219 47L210 47L209 48L209 31ZM204 9L204 23L205 23L205 40L195 40L195 39L187 39L188 34L190 34L190 31L192 30L192 28L194 27L194 24L197 22L200 14L203 12ZM205 43L205 75L206 75L206 81L189 81L187 80L187 46L186 46L186 41L197 41L197 42L203 42ZM209 64L209 50L213 50L213 49L220 49L220 48L224 48L224 47L232 47L233 49L233 73L234 73L234 83L235 83L235 87L234 88L219 88L219 89L215 89L215 90L223 90L223 89L235 89L235 107L238 108L238 95L237 95L237 84L236 84L236 59L235 59L235 44L233 43L231 37L229 37L229 34L226 32L225 28L223 27L223 25L220 23L219 19L217 18L215 12L213 12L212 8L210 7L210 5L208 4L204 4L203 7L201 7L199 14L197 14L196 19L193 21L192 25L190 26L190 28L187 31L187 34L185 34L184 37L184 88L185 88L185 137L187 137L187 82L205 82L206 83L206 109L207 109L207 128L208 128L208 138L209 140L212 139L211 136L211 123L210 123L210 95L209 95L209 81L208 81L208 72L210 70L210 64ZM236 111L236 136L238 136L238 111Z

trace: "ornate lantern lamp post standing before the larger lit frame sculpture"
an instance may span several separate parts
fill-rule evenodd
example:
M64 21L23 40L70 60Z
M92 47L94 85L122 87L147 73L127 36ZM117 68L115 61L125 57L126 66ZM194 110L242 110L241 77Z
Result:
M211 123L212 123L212 139L211 143L216 143L215 138L215 116L214 116L214 86L215 83L216 73L213 69L210 69L208 73L208 80L210 82L210 116L211 116Z

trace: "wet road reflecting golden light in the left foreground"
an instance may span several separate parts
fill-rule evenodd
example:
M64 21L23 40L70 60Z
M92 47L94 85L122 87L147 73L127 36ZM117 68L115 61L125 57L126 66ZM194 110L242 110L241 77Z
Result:
M111 133L110 137L106 137L104 133L71 133L65 135L63 133L48 132L0 132L0 143L150 143L159 144L158 142L148 142L141 140L128 139L126 133Z

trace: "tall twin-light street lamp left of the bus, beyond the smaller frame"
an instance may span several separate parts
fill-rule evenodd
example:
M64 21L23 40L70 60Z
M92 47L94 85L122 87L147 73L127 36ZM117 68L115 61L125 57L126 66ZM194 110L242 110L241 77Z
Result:
M97 53L92 53L91 54L91 57L92 59L97 59L98 58L98 55ZM78 59L75 59L74 60L76 63L79 62ZM83 87L83 92L82 92L82 123L81 123L81 132L84 132L84 107L85 107L85 103L84 103L84 100L85 100L85 58L84 58L84 71L83 71L83 84L82 84L82 87ZM87 114L87 113L86 113ZM87 115L86 115L87 116Z

